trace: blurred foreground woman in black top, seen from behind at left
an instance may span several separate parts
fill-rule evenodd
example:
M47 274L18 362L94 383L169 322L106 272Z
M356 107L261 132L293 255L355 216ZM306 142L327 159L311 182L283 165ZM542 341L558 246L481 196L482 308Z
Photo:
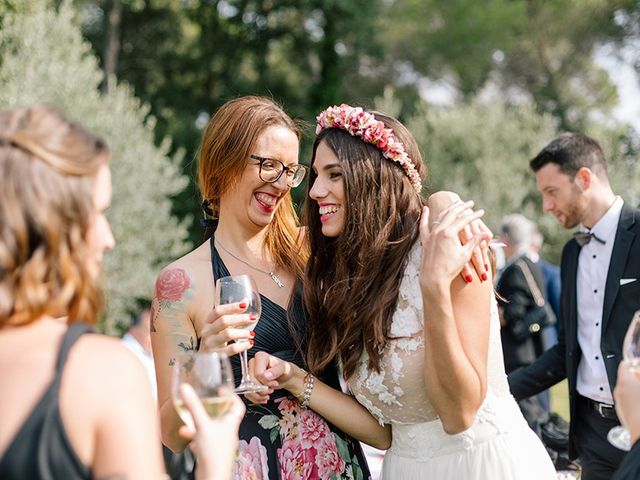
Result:
M156 405L119 339L91 333L114 246L105 143L46 106L0 113L0 478L164 478ZM202 480L231 473L236 409L182 387ZM216 437L217 438L214 438Z

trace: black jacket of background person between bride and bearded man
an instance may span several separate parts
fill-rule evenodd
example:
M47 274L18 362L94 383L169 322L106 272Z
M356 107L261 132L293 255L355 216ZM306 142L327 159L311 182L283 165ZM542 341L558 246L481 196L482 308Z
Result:
M503 320L500 339L507 373L519 367L531 365L544 351L542 330L529 331L532 310L539 309L536 307L534 294L525 274L516 263L517 260L522 260L529 268L538 290L543 295L545 290L542 272L526 255L509 263L498 279L496 292L499 297L502 297L498 302L502 309ZM525 332L525 336L522 337L520 332Z

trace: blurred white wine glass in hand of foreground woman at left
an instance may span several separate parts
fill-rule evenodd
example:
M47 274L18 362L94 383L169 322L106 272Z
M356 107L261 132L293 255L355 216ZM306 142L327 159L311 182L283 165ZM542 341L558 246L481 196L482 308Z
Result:
M193 428L193 418L180 397L180 385L188 383L200 397L211 418L233 407L233 372L224 352L187 352L178 355L173 365L173 405L185 425Z

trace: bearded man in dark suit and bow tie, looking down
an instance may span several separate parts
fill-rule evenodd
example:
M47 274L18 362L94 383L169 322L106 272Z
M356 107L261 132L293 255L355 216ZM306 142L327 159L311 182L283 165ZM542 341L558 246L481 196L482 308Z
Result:
M609 479L624 452L607 441L619 424L612 393L622 342L640 309L640 211L611 190L604 154L581 134L563 134L530 162L543 209L565 228L558 343L509 376L516 399L569 383L569 455L583 480Z

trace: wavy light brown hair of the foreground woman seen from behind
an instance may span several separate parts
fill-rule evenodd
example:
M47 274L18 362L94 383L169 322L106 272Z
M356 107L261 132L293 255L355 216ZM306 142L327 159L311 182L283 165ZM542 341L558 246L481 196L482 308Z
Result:
M106 144L49 106L0 113L0 328L42 315L95 323L86 233Z

